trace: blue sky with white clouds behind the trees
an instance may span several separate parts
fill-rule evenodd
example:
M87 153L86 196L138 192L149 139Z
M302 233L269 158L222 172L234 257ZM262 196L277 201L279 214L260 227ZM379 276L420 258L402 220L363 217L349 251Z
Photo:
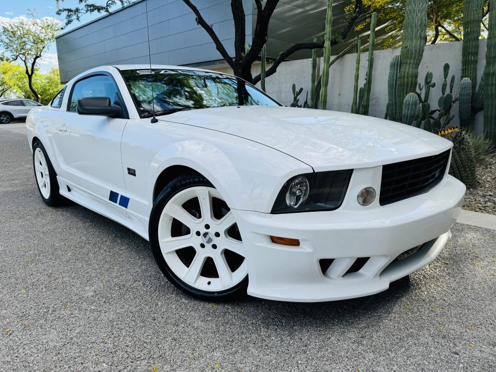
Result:
M103 3L101 0L95 0L97 3ZM64 0L63 6L75 7L78 4L77 0ZM0 5L0 23L15 21L17 17L28 16L29 10L36 10L38 17L58 17L55 12L57 11L57 1L56 0L1 0ZM99 17L101 14L87 14L81 18L81 22L73 22L65 30L70 30L74 27L79 26L82 23L86 23L92 19ZM42 73L47 72L50 68L58 65L57 62L57 48L55 43L50 45L45 55L39 62L40 71Z

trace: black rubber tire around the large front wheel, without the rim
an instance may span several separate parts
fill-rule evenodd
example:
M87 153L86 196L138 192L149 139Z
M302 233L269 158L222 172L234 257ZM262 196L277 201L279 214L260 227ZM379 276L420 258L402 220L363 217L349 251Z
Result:
M240 283L234 287L222 292L207 292L191 287L182 281L169 267L160 250L158 239L158 224L163 209L178 192L194 186L214 187L205 177L199 175L184 175L180 176L169 183L157 196L150 214L150 222L148 225L148 234L153 256L162 273L169 279L172 284L179 288L184 293L206 301L225 301L233 300L247 296L248 275Z

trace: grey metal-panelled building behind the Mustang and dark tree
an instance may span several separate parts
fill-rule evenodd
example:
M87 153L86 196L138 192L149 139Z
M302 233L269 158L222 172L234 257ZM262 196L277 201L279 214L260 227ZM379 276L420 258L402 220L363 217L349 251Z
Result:
M195 0L194 3L234 57L230 1ZM243 4L248 45L255 26L256 6L252 0L244 0ZM345 1L335 5L334 27L338 27L345 16L343 7L346 4ZM269 23L267 56L274 58L295 43L321 38L325 9L326 0L281 0ZM137 0L57 37L61 81L67 82L77 74L103 64L148 63L147 15L152 63L210 68L227 66L183 0L146 0L146 4L145 0ZM353 40L351 35L348 39ZM291 59L309 56L309 51L301 51Z

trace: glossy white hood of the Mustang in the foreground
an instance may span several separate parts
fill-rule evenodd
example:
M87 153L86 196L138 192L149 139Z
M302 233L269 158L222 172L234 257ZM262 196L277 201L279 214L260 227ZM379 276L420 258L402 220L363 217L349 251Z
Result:
M435 155L450 141L410 125L369 116L293 107L217 107L158 119L229 133L328 169L374 167Z

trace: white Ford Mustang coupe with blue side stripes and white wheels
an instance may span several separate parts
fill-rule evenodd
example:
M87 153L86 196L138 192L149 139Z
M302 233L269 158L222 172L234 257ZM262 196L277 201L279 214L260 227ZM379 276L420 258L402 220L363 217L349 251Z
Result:
M45 203L65 197L128 227L203 299L383 291L434 260L465 194L437 135L283 107L195 68L93 68L26 127Z

